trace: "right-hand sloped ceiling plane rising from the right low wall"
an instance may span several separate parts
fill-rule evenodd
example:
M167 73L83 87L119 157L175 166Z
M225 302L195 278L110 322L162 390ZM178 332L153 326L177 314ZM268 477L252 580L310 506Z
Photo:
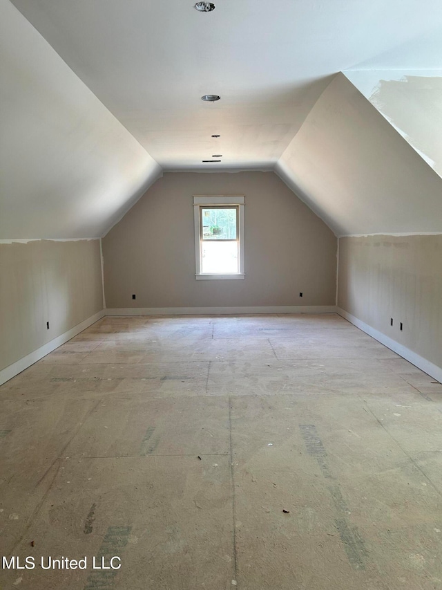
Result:
M337 234L441 231L441 177L342 73L276 172Z

